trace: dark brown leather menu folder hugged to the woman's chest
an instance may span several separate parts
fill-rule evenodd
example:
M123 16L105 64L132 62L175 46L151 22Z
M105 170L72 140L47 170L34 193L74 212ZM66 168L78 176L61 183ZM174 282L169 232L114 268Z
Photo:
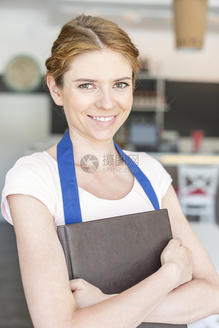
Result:
M69 279L83 278L105 294L136 285L161 267L172 239L166 209L57 226ZM186 324L141 323L141 328Z

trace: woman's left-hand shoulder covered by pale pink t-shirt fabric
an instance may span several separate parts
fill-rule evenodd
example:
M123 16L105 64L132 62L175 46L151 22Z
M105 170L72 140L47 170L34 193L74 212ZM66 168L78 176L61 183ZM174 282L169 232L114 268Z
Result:
M20 157L8 171L2 191L2 214L12 223L7 196L31 195L46 205L55 218L57 202L58 166L46 151Z

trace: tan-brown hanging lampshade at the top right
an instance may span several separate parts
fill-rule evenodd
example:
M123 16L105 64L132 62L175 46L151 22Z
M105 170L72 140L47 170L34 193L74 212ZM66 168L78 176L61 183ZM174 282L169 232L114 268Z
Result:
M207 0L174 0L178 49L201 49L206 26Z

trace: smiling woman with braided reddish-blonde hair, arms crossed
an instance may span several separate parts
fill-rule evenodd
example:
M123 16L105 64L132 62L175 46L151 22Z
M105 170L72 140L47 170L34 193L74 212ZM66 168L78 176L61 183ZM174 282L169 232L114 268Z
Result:
M114 23L80 15L63 26L46 61L47 85L69 126L83 221L153 210L133 173L124 164L119 170L113 143L131 110L138 55ZM34 327L134 328L143 321L188 323L219 313L217 272L182 213L170 176L145 153L125 151L139 155L161 208L168 209L173 239L162 253L162 267L119 295L104 295L82 279L69 282L56 232L64 224L56 146L20 158L2 196ZM92 174L80 167L86 154L99 159ZM114 172L104 172L106 155Z

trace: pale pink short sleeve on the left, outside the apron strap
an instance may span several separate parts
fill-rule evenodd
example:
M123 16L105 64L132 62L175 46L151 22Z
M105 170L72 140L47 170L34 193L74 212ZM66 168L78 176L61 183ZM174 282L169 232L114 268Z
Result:
M10 194L36 197L46 205L55 218L56 199L48 173L29 156L18 159L5 178L1 201L2 215L9 223L13 224L7 199L7 195Z

